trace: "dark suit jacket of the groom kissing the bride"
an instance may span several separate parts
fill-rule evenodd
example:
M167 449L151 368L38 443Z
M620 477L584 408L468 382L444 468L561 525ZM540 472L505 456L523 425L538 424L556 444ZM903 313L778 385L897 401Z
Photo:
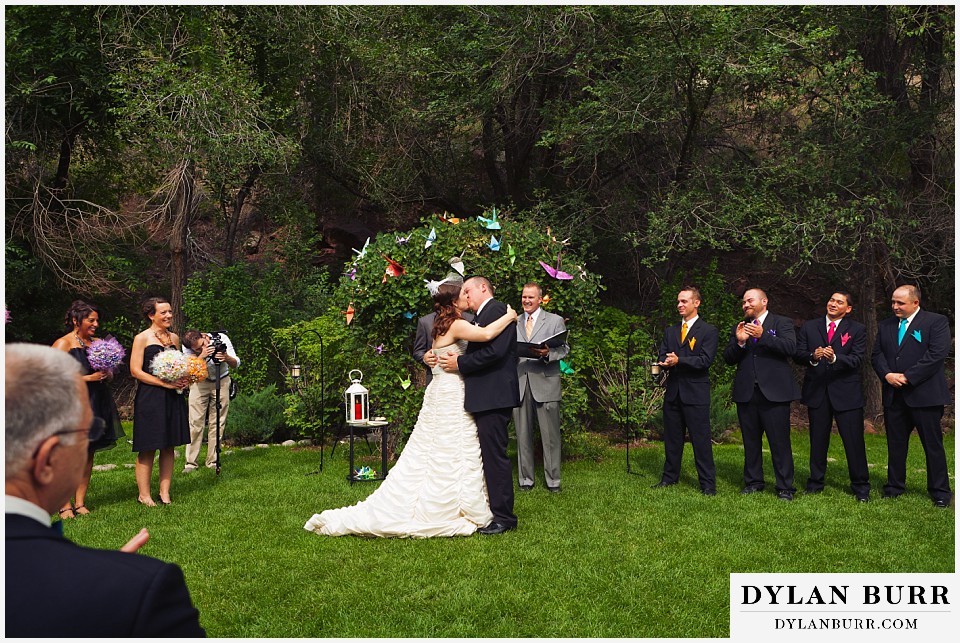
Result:
M474 323L486 326L507 312L506 304L491 299ZM517 383L517 331L513 326L489 342L470 342L457 360L463 375L463 408L470 413L520 406Z

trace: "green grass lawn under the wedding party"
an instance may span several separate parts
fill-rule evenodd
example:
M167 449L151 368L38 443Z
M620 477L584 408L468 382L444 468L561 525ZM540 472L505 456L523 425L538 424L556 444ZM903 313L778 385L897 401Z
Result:
M946 445L952 463L953 434ZM802 488L806 433L795 432L793 446ZM714 453L713 498L699 494L689 445L681 484L669 489L650 488L662 445L630 450L639 475L611 449L600 463L565 462L560 495L518 493L515 532L418 541L303 530L313 513L355 503L377 484L346 482L343 447L320 475L305 475L317 469L316 450L235 450L219 477L180 474L181 452L172 506L136 504L133 469L94 472L93 513L68 522L66 534L117 548L148 527L141 552L181 565L217 637L726 637L731 572L954 571L954 510L927 498L916 437L907 494L881 500L886 446L867 436L866 505L846 493L837 436L826 491L793 503L772 493L769 454L768 493L741 496L741 447ZM97 456L133 461L126 444Z

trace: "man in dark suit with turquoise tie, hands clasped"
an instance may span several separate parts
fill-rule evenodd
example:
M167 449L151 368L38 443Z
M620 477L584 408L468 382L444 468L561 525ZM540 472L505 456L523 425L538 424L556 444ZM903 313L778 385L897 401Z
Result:
M890 298L893 317L877 325L873 370L883 383L887 433L884 498L906 490L907 447L914 428L927 458L927 492L935 507L950 506L950 478L940 421L953 402L943 370L950 354L950 324L943 315L920 310L920 289L900 286Z

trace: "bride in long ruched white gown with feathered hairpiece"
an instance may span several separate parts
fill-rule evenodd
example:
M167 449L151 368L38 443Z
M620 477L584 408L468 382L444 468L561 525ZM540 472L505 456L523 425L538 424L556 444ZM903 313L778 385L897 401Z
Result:
M489 341L517 319L508 306L506 314L488 326L465 321L460 316L466 310L462 282L453 277L428 285L437 313L437 354L462 354L467 342ZM314 514L303 528L325 536L430 538L469 536L492 520L477 425L463 410L463 378L435 366L417 423L390 475L366 500Z

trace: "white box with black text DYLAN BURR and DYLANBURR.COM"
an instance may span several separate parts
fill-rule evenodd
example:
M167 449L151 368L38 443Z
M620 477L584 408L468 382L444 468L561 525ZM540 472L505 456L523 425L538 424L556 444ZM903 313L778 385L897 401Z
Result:
M730 574L730 638L953 639L958 587L956 574Z

